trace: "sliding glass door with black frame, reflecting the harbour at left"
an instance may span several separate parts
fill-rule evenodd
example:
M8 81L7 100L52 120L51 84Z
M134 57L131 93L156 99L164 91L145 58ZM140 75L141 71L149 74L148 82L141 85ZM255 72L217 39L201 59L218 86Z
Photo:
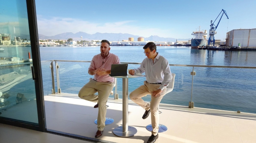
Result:
M43 96L33 5L33 0L7 0L0 5L0 122L42 130Z

